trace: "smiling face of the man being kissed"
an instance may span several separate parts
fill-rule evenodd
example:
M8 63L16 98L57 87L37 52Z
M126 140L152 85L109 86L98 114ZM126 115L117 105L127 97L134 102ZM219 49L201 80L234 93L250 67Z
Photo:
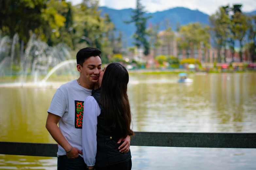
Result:
M99 56L92 56L85 60L83 66L80 67L80 71L78 70L85 83L92 85L98 81L99 73L102 71L101 65Z

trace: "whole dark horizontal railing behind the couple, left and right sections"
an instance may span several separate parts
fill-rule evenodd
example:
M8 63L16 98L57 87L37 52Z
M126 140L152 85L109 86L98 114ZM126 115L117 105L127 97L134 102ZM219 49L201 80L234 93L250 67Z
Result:
M135 132L133 146L256 148L256 133ZM57 144L0 142L0 154L56 157Z

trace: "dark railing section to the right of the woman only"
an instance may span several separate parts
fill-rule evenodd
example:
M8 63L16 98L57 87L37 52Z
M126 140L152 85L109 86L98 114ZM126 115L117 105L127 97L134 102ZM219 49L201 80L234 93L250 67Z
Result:
M134 146L256 148L256 133L136 132Z

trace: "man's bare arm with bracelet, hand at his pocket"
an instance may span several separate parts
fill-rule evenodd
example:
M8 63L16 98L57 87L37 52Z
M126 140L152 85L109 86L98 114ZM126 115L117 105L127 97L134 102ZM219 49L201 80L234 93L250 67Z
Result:
M51 134L53 139L63 148L65 151L69 151L72 146L66 138L62 135L60 128L58 127L58 122L60 121L60 116L48 113L47 120L46 120L46 129ZM82 151L78 150L77 148L71 149L68 153L66 153L68 158L76 158L79 154L83 154Z

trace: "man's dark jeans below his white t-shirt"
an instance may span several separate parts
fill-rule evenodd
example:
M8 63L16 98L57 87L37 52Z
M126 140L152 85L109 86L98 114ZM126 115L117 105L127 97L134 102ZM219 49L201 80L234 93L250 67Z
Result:
M84 159L78 156L74 159L69 159L66 155L58 157L58 170L86 170L87 166Z

